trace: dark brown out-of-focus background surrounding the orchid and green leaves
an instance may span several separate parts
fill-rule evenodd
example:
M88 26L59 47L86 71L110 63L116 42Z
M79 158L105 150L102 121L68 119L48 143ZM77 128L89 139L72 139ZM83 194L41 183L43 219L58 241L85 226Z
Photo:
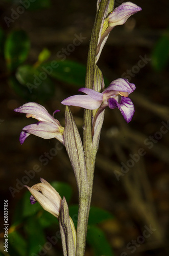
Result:
M122 1L115 5L119 3ZM123 77L136 85L136 90L131 95L135 114L127 124L118 110L106 109L96 158L92 205L102 207L114 216L113 220L101 225L114 255L169 255L168 1L135 0L134 3L142 11L130 17L125 25L113 29L98 66L108 81ZM51 0L46 5L44 1L44 8L26 10L8 27L4 17L11 17L11 9L16 10L18 5L17 1L1 1L1 27L6 36L15 29L26 31L31 41L26 63L33 65L44 48L51 51L51 61L57 59L58 52L72 44L75 34L81 34L85 39L75 50L68 52L66 60L86 65L96 1ZM164 37L167 39L163 39ZM163 63L165 57L166 61ZM140 59L144 60L144 65L139 62ZM139 63L142 67L139 67ZM40 177L49 182L67 182L73 187L70 203L77 203L73 170L61 144L55 139L43 140L31 135L20 145L19 134L22 127L33 120L13 111L27 101L10 86L3 55L0 67L2 212L3 200L8 199L9 222L12 222L16 204L26 189L20 189L12 197L9 187L16 188L18 180L21 181L25 175L25 170L31 170L36 164L41 170L30 179L29 186L38 183ZM77 94L78 87L56 79L53 82L55 93L43 102L38 98L36 101L42 103L50 114L56 109L61 110L56 118L64 126L65 107L60 102L67 96ZM71 111L83 134L82 109L72 107ZM57 148L57 153L52 148ZM138 157L140 151L144 154ZM48 157L44 157L45 153ZM129 161L131 159L133 161ZM122 173L122 166L127 166L124 167L126 174ZM151 231L151 236L145 238L145 241L140 239L138 242L145 226L156 230ZM137 240L137 246L133 245L131 249L129 243L132 244L133 240ZM93 255L89 247L86 255Z

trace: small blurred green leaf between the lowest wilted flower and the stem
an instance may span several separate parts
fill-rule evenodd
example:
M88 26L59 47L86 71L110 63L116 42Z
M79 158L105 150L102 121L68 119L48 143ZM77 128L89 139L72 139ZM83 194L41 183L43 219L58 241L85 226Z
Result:
M58 181L53 181L51 182L51 185L56 189L56 191L59 193L61 198L63 196L66 198L66 202L68 203L70 201L70 198L72 196L72 188L70 185L64 182L58 182Z

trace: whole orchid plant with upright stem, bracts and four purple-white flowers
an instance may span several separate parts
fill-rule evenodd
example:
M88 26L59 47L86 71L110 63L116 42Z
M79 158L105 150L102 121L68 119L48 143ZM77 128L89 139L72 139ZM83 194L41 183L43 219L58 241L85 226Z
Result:
M61 102L66 105L65 127L54 118L54 114L59 110L51 116L43 106L35 102L26 103L15 109L16 112L25 113L27 117L38 120L23 127L20 143L22 144L30 134L43 139L56 138L65 146L74 169L79 193L77 231L69 217L65 198L62 199L47 181L41 179L41 183L32 187L26 186L32 194L31 204L38 201L45 210L59 218L64 256L84 256L85 253L94 163L105 108L109 106L110 109L119 109L127 123L134 115L134 105L128 96L134 92L135 85L127 79L118 78L105 89L102 72L96 65L110 31L117 25L123 25L131 15L141 10L131 2L123 3L114 10L113 6L113 0L98 0L87 59L86 87L79 89L83 95L70 96ZM68 108L71 105L84 108L83 143Z

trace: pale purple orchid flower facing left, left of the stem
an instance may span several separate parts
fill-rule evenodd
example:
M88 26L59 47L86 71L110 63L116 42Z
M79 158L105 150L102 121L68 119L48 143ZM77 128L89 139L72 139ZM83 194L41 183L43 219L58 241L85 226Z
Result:
M20 134L19 141L21 144L26 140L30 134L34 134L43 139L56 138L63 143L63 130L64 127L60 125L60 122L51 116L44 106L29 102L23 104L19 108L14 110L15 112L25 113L26 117L32 117L39 122L25 126ZM56 110L58 112L59 110ZM53 115L54 115L53 114Z

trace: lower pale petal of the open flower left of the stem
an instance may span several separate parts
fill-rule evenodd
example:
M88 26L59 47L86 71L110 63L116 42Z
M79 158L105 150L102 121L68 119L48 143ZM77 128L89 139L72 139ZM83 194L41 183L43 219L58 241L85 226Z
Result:
M40 121L38 123L33 123L25 126L23 131L26 131L29 134L34 134L43 139L52 139L60 133L59 128L53 123Z

